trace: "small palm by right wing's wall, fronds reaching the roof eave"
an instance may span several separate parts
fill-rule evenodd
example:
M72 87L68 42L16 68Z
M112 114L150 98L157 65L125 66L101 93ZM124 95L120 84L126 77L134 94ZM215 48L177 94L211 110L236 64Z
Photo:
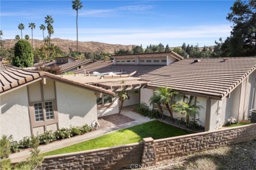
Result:
M169 102L171 103L171 105L173 104L173 96L175 94L178 94L178 92L168 89L167 87L165 88L160 87L154 91L154 95L156 95L156 99L158 101L157 104L160 104L160 106L161 104L165 105L166 109L170 114L171 120L173 120L173 111L172 111L172 107L169 106ZM154 97L152 99L154 99Z

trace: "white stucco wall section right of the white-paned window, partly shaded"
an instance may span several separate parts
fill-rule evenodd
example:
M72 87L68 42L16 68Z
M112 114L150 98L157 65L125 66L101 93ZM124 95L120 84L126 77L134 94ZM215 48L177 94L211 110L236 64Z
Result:
M56 82L59 127L89 126L97 120L95 92Z

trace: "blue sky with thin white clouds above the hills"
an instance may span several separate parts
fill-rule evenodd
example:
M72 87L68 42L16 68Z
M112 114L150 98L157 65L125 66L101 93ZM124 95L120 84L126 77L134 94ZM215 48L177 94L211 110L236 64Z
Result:
M214 45L230 35L232 23L226 20L234 1L81 1L78 11L79 41L109 44L187 44ZM43 39L45 16L54 19L52 38L76 40L75 10L72 1L1 0L3 39L20 35ZM47 30L45 30L45 35Z

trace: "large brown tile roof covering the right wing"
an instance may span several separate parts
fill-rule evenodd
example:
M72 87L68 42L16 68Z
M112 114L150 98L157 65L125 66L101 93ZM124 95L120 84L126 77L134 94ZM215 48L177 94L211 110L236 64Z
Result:
M102 67L99 68L100 64ZM183 59L166 66L95 62L83 69L99 73L124 70L129 74L137 71L134 76L150 81L148 86L154 88L168 86L184 93L222 99L256 69L256 58L228 58L226 61L223 58Z

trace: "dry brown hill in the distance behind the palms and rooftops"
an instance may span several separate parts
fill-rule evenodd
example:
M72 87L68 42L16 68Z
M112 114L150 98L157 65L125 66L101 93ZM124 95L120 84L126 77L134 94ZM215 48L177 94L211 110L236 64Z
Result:
M7 49L12 48L16 43L15 39L3 39L3 46ZM31 39L29 40L32 41ZM69 52L69 48L76 51L76 41L68 40L68 39L51 39L51 43L58 46L62 51ZM40 48L43 45L43 41L34 39L33 46L34 48ZM113 54L114 50L131 50L133 45L121 45L121 44L106 44L102 42L78 42L78 51L81 52L106 52Z

